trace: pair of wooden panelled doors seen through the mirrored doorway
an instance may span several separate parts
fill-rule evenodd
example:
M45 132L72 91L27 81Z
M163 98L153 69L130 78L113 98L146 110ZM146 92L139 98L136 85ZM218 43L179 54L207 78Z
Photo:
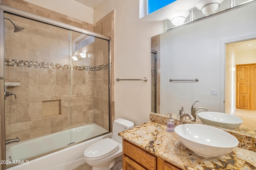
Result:
M236 65L236 108L256 110L256 64Z

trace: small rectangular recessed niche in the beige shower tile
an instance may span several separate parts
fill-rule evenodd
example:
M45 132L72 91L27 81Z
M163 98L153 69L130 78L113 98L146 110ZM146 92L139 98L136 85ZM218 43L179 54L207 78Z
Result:
M42 101L42 116L52 117L61 115L61 100L45 100Z

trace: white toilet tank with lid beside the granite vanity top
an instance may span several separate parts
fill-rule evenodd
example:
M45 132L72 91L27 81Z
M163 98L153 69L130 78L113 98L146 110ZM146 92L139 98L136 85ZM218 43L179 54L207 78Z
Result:
M122 118L114 120L112 139L122 144L122 137L120 137L118 133L130 129L131 127L134 127L134 123L131 121Z

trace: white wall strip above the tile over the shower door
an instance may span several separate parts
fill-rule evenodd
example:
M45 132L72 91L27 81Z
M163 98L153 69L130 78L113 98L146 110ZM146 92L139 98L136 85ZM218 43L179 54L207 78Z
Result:
M74 0L25 0L46 9L93 24L94 9Z

